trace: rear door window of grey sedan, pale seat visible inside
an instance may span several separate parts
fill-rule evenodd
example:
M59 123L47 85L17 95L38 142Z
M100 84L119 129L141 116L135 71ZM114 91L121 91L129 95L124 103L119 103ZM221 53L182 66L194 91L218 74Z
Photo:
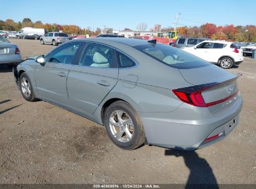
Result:
M116 68L115 50L105 45L88 43L78 65L85 67Z

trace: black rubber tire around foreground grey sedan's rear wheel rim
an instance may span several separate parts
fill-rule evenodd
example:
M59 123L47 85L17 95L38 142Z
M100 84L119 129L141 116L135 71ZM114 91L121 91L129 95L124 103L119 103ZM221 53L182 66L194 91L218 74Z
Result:
M130 117L133 123L133 132L132 132L130 141L127 141L127 142L118 141L118 139L115 138L115 136L111 131L110 116L116 110L121 110L125 112ZM108 106L104 114L103 124L107 129L108 136L110 137L111 141L113 141L113 143L118 147L120 147L121 149L133 150L145 143L145 131L144 131L143 124L138 114L136 113L136 111L131 107L130 104L124 101L116 101L115 103L112 103L110 104L110 106ZM125 132L123 134L125 134Z

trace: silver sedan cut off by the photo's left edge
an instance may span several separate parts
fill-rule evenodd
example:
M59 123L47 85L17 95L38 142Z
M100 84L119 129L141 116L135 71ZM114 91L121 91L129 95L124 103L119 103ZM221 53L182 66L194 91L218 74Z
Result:
M0 64L6 64L9 67L21 62L21 52L17 45L0 35Z

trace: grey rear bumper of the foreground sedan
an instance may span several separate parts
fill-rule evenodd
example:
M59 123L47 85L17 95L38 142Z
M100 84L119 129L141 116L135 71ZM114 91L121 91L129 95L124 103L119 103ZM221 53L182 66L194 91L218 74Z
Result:
M186 120L185 114L184 120L170 119L174 117L173 113L139 114L148 144L170 149L196 150L224 139L237 126L241 109L242 98L239 95L232 107L201 120ZM219 137L205 141L220 133Z

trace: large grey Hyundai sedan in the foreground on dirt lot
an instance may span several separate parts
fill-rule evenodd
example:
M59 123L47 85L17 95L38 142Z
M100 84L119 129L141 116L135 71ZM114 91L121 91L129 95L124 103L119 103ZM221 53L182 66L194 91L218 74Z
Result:
M155 40L71 40L21 63L14 76L27 101L103 124L122 149L196 150L224 139L242 108L239 75Z

